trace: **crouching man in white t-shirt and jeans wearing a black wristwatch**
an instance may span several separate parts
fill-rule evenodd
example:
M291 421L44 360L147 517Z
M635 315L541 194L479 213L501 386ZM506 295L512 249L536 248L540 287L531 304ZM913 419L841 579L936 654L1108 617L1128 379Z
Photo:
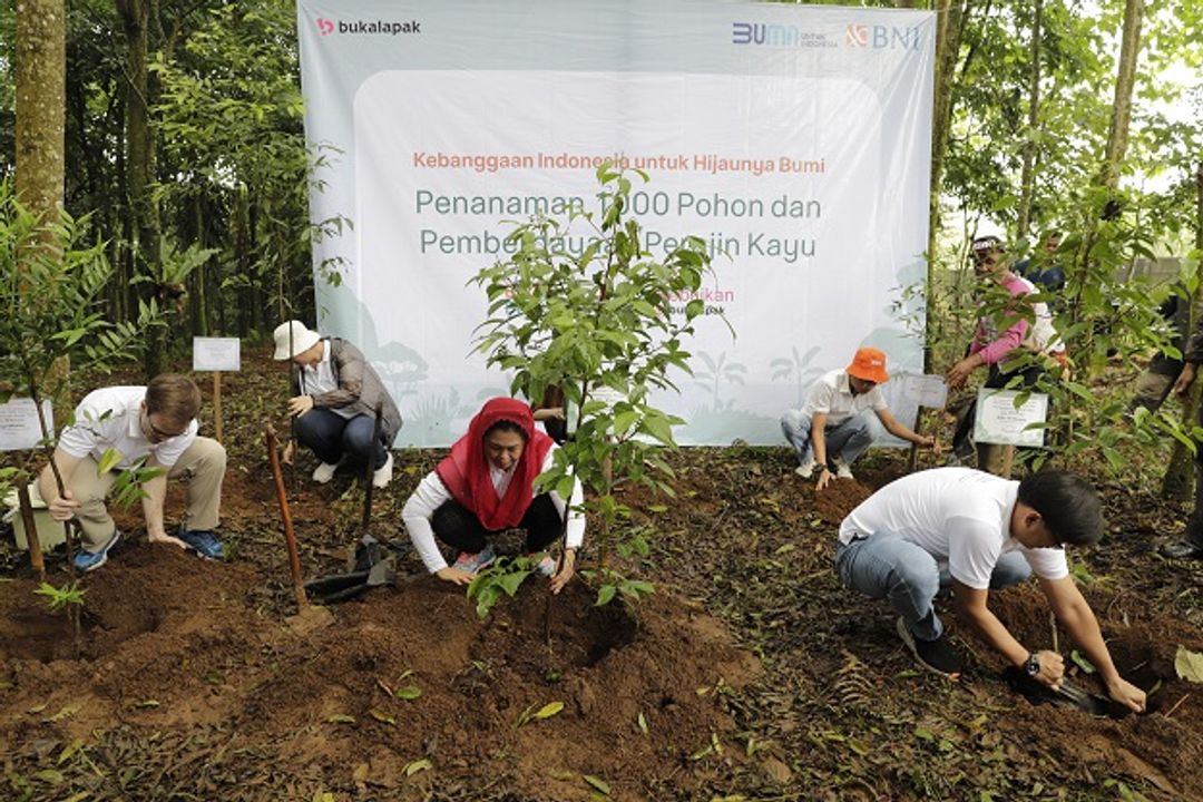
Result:
M961 659L932 606L952 587L953 606L986 643L1038 682L1059 688L1065 661L1031 652L990 608L990 590L1036 574L1069 637L1086 653L1115 701L1144 709L1145 694L1115 670L1098 620L1069 577L1063 545L1103 534L1102 504L1079 476L1059 470L1021 482L968 468L911 474L873 493L840 525L836 572L848 586L888 599L901 613L899 635L928 669L958 678Z

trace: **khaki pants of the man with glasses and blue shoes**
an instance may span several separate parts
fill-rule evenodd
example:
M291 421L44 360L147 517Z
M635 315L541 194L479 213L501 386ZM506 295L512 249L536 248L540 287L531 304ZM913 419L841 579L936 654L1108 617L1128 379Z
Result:
M119 471L99 474L100 465L84 457L67 482L71 495L79 503L76 519L83 529L85 551L99 551L113 534L112 516L106 499ZM196 438L172 465L167 479L188 476L188 512L184 527L198 531L215 529L221 509L221 480L225 479L225 447L211 438Z

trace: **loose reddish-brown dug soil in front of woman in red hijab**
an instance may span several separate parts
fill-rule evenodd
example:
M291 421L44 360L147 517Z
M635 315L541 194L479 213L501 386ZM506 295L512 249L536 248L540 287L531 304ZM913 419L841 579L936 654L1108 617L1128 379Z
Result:
M678 598L597 607L583 583L552 598L528 581L478 620L461 588L417 577L286 623L255 608L261 583L247 564L126 547L85 578L78 642L31 582L0 584L0 749L40 766L30 744L200 731L208 754L314 777L310 796L492 777L532 800L587 798L585 776L645 798L737 754L725 699L755 660Z

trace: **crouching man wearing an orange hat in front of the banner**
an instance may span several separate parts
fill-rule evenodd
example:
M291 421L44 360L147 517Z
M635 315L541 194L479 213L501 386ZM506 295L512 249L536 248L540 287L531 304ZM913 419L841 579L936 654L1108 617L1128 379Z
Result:
M789 410L781 418L781 430L801 463L794 473L810 479L818 469L816 489L819 491L831 481L832 467L835 476L852 479L852 463L885 432L938 450L935 438L912 432L890 414L877 386L888 380L885 354L863 347L847 368L831 370L816 381L806 405Z

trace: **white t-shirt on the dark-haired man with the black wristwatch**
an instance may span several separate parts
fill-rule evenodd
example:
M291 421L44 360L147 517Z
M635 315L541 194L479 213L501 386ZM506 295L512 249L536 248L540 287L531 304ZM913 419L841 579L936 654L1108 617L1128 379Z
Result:
M1061 548L1027 548L1011 536L1019 482L972 468L932 468L895 480L865 499L840 524L840 542L900 536L947 566L971 588L990 587L998 558L1023 553L1036 576L1069 575Z

